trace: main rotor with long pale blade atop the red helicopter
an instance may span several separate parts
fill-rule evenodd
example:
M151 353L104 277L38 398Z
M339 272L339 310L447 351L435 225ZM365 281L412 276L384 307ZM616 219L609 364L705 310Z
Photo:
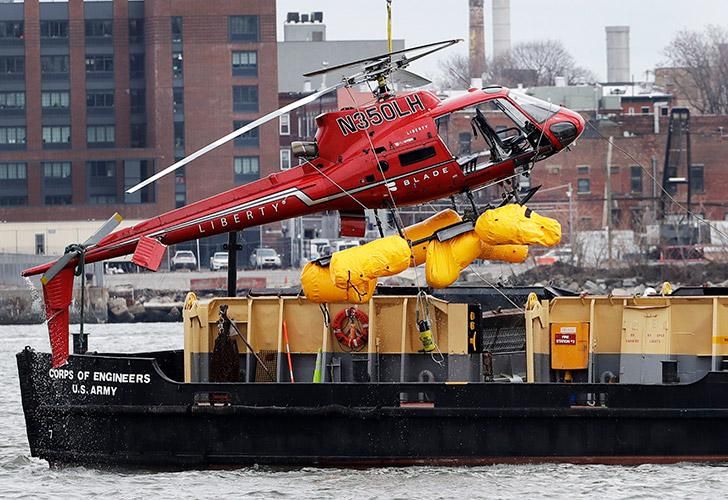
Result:
M265 116L261 116L255 121L252 121L248 123L247 125L244 125L240 127L237 130L234 130L233 132L230 132L229 134L211 142L207 146L198 149L194 153L190 154L189 156L186 156L182 160L173 163L169 167L165 168L164 170L160 170L156 174L152 175L151 177L143 180L139 184L129 188L126 192L131 194L135 193L136 191L139 191L145 186L148 186L149 184L155 182L156 180L164 177L165 175L174 172L180 167L183 167L190 163L193 160L196 160L200 156L209 153L213 149L222 146L223 144L232 141L236 137L245 134L246 132L250 132L251 130L254 130L264 123L267 123L271 120L274 120L278 118L279 116L285 115L286 113L293 111L296 108L300 108L301 106L305 106L308 103L311 103L318 99L319 97L328 94L329 92L332 92L339 87L350 87L353 85L359 85L361 83L365 82L377 82L377 90L374 91L375 95L377 97L380 97L383 95L383 93L386 93L388 91L386 86L386 79L390 77L395 72L402 71L404 72L404 68L410 65L413 61L416 61L417 59L420 59L422 57L425 57L429 54L432 54L433 52L437 52L438 50L445 49L447 47L450 47L451 45L454 45L458 42L462 42L460 39L455 40L445 40L442 42L435 42L435 43L428 43L425 45L420 45L417 47L412 47L409 49L401 49L396 50L394 52L387 52L386 54L381 54L374 57L367 57L365 59L358 59L356 61L344 63L344 64L338 64L335 66L326 66L322 69L312 71L309 73L305 73L304 77L310 77L310 76L316 76L316 75L323 75L325 73L329 73L331 71L336 71L343 68L349 68L352 66L362 66L362 70L358 73L355 73L351 76L345 76L341 82L337 83L336 85L332 85L331 87L324 88L322 90L319 90L318 92L314 92L313 94L307 95L303 99L299 99L298 101L294 101L290 104L287 104L286 106L283 106L280 109L277 109L276 111L273 111L271 113L268 113ZM412 57L407 57L408 53L411 52L417 52L417 51L423 51L416 53ZM394 55L400 55L398 59L393 59L392 56ZM413 73L406 72L409 75L413 75ZM421 78L421 77L420 77ZM422 79L424 81L427 81L426 79Z

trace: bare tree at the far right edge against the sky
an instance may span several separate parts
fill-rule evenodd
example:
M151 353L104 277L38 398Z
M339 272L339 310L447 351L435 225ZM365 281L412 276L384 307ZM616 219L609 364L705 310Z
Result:
M728 113L728 32L708 26L680 31L665 48L672 83L701 113Z

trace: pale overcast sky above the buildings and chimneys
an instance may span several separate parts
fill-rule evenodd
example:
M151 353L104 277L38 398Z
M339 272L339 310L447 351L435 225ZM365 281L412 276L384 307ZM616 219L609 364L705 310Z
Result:
M486 53L490 8L486 6ZM277 0L278 37L287 12L323 11L328 40L385 39L385 0ZM425 58L410 69L430 78L438 60L467 54L468 0L393 0L394 38L407 47L451 38L465 42ZM511 0L511 43L561 40L580 66L600 80L607 76L605 26L630 26L630 72L644 80L645 71L665 61L664 48L680 30L702 30L708 24L728 29L726 0ZM312 61L312 67L319 66ZM651 76L650 76L651 78Z

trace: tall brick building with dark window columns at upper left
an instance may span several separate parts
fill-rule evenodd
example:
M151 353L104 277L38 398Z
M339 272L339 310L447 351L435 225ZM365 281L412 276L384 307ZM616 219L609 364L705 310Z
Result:
M124 193L276 109L276 65L275 2L0 3L0 220L145 219L278 170L269 123Z

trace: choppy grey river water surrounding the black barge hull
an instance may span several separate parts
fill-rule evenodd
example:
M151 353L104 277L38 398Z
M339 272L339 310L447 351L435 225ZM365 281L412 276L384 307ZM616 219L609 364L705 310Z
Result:
M92 350L182 347L180 324L89 327ZM0 498L722 498L728 464L491 465L139 472L50 469L30 457L15 354L48 349L45 326L0 325ZM726 443L728 446L728 443Z

